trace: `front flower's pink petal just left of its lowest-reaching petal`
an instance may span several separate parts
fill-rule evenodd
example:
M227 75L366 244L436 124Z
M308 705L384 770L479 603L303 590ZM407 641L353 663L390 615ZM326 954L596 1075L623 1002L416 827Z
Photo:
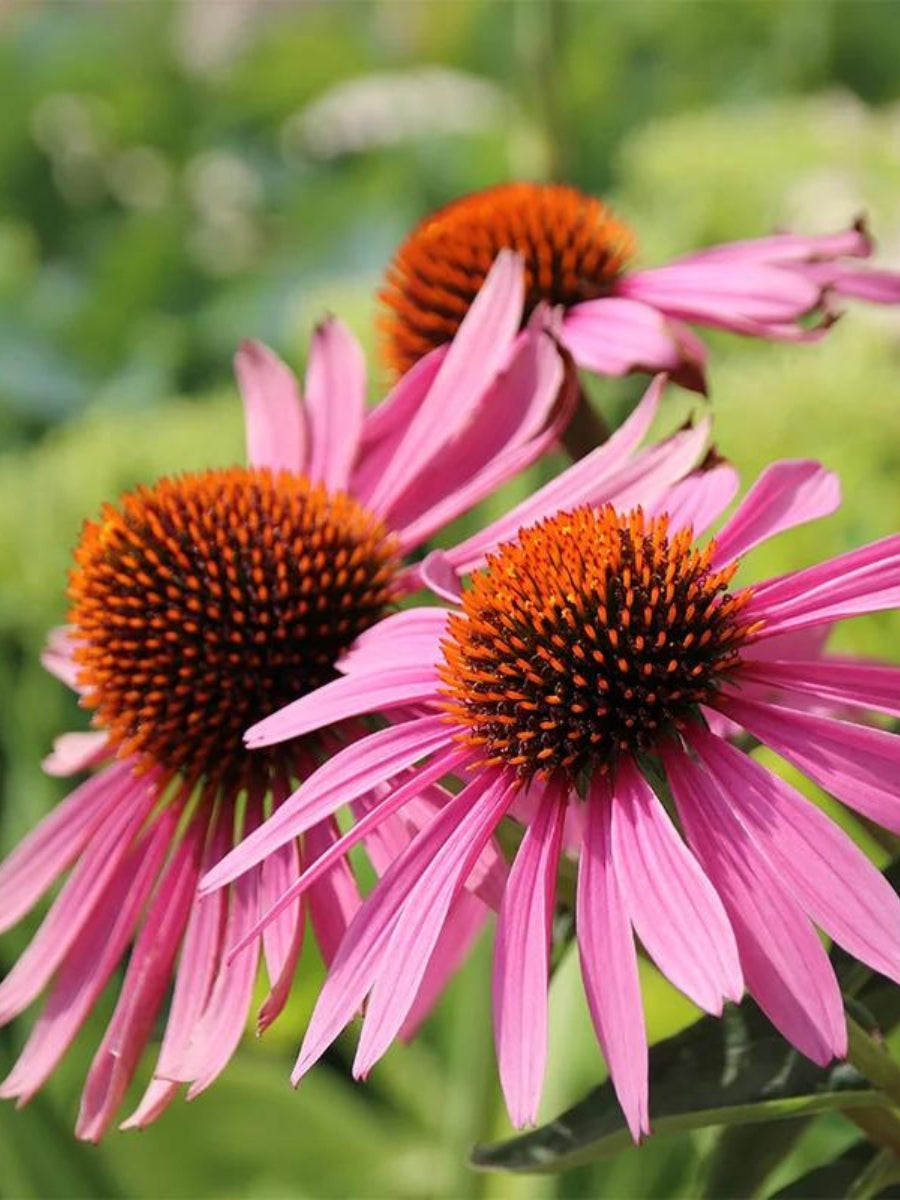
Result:
M551 790L527 827L506 883L493 959L493 1027L506 1109L538 1117L547 1064L547 983L565 794Z

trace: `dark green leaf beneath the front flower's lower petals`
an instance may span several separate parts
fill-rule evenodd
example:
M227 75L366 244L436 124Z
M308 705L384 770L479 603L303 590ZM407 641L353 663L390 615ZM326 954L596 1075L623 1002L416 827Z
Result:
M655 1134L718 1124L787 1120L888 1103L852 1067L816 1067L793 1050L751 1002L704 1018L650 1051L650 1122ZM533 1133L476 1146L474 1166L562 1171L610 1158L631 1145L606 1082Z

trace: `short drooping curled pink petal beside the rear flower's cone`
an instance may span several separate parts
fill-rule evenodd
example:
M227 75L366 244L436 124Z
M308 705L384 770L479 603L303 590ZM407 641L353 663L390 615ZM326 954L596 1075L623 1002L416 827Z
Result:
M574 305L565 313L562 340L578 366L605 376L676 374L692 359L678 326L640 298L604 296Z

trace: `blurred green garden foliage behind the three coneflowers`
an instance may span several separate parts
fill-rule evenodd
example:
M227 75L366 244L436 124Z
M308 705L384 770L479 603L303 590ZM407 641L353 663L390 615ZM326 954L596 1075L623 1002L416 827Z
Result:
M241 460L241 337L301 367L313 322L336 311L370 350L376 395L373 295L392 248L430 208L509 178L608 196L646 263L866 210L880 260L900 266L899 61L900 6L866 0L0 8L0 847L59 798L40 760L83 726L37 665L79 524L139 480ZM760 568L896 528L900 314L858 306L818 347L713 341L720 449L748 474L797 455L845 479L842 512ZM618 416L638 390L595 395ZM694 403L674 397L664 424ZM886 617L842 637L896 659L898 634ZM0 970L34 925L4 938ZM209 1093L94 1148L71 1128L97 1014L44 1093L0 1105L0 1196L696 1195L713 1132L558 1180L468 1170L473 1141L510 1132L488 950L366 1087L348 1081L348 1043L294 1093L319 980L305 961L289 1012ZM647 995L654 1036L691 1020L649 970ZM571 960L552 1016L547 1117L602 1072ZM29 1024L0 1031L0 1070ZM853 1136L820 1118L768 1189Z

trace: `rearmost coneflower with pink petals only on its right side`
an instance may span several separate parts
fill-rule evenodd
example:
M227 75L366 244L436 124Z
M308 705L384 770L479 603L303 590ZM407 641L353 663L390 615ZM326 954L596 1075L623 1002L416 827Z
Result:
M526 263L526 313L564 310L562 340L600 374L667 371L703 389L706 348L690 324L802 341L834 300L900 302L900 275L860 268L872 242L862 222L820 238L776 234L714 246L634 270L635 236L600 199L560 184L502 184L426 217L388 270L385 356L397 371L449 341L497 252ZM826 320L827 324L827 320Z

